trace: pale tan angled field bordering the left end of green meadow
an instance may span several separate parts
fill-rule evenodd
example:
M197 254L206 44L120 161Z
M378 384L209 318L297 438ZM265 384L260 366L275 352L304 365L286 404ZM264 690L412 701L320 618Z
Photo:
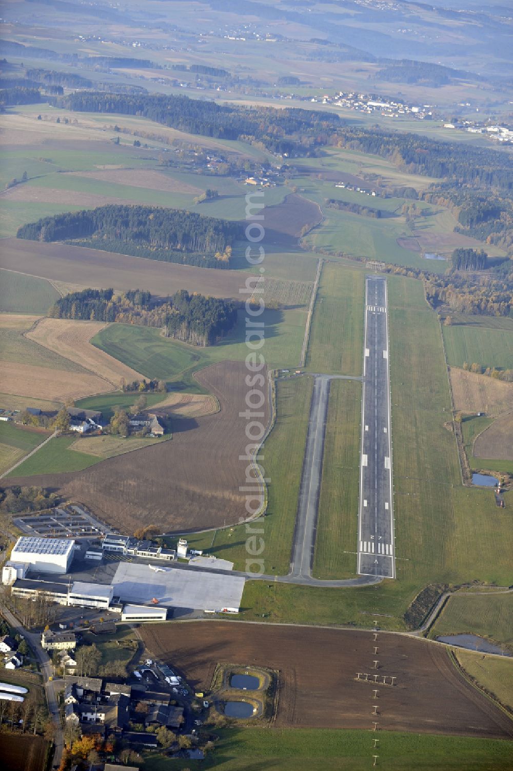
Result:
M100 378L106 385L118 388L122 379L127 382L142 380L143 375L123 365L117 359L100 351L89 340L106 325L102 322L78 322L65 318L42 318L27 337L49 351L64 356ZM107 390L107 389L106 389Z

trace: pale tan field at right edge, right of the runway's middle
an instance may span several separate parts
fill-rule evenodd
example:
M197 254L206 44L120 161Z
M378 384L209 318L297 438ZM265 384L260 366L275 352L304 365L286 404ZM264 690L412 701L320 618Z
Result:
M513 409L513 383L502 382L467 372L458 367L450 368L454 409L457 412L486 412L498 416Z

